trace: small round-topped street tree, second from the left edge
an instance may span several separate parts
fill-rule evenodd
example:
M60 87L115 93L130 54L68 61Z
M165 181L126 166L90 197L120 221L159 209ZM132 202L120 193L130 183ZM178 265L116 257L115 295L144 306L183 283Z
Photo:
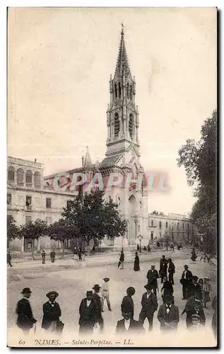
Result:
M28 224L22 225L19 229L20 237L24 239L32 239L32 257L34 258L34 241L39 239L40 236L45 236L47 234L47 222L36 219L35 222L31 220Z

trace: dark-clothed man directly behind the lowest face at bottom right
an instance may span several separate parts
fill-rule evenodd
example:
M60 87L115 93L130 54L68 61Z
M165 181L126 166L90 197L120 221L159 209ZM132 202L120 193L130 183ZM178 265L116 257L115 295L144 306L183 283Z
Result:
M201 300L197 299L195 296L192 296L188 299L188 301L186 302L184 311L182 312L182 314L184 314L186 312L186 324L187 324L187 328L192 326L192 321L191 321L191 316L192 314L198 314L200 316L200 323L202 325L206 324L206 316L204 314L204 309L203 306L201 304Z

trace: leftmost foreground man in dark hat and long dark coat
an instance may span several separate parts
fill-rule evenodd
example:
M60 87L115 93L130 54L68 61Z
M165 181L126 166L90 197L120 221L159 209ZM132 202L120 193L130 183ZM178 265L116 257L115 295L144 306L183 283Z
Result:
M24 334L28 334L30 329L33 328L33 324L37 322L37 320L33 317L33 312L29 302L31 293L32 292L29 287L24 287L21 292L21 294L23 294L23 299L18 301L16 307L16 314L18 314L16 324L23 330Z

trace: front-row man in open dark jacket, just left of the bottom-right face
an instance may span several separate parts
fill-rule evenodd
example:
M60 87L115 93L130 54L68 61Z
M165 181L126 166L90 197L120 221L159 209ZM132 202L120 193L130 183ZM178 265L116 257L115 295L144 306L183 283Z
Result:
M177 330L179 309L175 306L172 295L165 297L165 304L160 305L157 317L160 321L160 330Z

